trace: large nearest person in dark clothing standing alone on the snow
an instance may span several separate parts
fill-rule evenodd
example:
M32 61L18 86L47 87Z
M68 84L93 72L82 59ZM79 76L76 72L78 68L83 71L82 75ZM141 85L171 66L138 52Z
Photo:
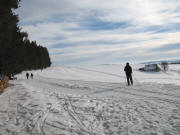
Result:
M130 81L131 81L131 85L133 85L133 79L132 79L132 68L129 65L129 63L126 63L126 66L124 68L124 71L126 72L126 78L127 78L127 83L128 85L130 85ZM130 81L129 81L130 80Z

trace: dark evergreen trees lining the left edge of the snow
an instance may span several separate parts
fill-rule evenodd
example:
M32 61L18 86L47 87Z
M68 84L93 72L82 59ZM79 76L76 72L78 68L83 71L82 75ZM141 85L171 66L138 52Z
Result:
M20 0L0 0L0 75L23 70L43 69L51 65L47 48L30 41L18 26L14 13Z

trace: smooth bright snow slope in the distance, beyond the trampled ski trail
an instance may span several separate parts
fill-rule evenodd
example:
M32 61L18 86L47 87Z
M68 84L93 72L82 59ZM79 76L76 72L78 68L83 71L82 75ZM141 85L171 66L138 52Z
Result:
M144 67L144 65L132 65L135 83L156 82L180 85L180 65L169 65L167 72L158 73L139 72L140 67ZM126 83L124 65L59 66L48 68L42 72L35 71L34 74L37 77L63 80ZM25 72L18 78L25 79Z

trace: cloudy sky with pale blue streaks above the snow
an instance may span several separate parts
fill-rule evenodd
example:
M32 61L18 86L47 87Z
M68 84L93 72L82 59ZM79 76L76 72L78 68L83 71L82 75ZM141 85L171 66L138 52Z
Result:
M54 65L180 58L179 0L22 0L20 27Z

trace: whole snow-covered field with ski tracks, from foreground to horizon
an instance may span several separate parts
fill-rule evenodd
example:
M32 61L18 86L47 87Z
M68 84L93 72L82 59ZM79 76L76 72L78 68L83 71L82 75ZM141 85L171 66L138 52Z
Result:
M180 65L158 73L132 65L130 87L123 66L17 75L0 95L0 135L180 135Z

